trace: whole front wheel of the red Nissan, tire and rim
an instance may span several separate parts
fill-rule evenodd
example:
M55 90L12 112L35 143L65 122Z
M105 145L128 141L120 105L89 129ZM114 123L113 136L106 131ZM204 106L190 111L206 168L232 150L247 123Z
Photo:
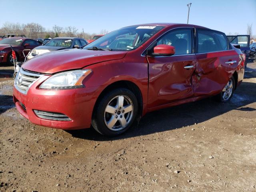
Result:
M116 136L128 130L138 114L136 96L128 89L110 91L96 105L93 128L102 135Z

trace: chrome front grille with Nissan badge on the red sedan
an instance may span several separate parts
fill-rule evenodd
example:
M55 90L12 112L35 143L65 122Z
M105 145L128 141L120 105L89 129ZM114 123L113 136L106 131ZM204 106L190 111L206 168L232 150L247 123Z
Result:
M41 76L43 75L38 73L28 72L20 68L20 71L16 75L14 86L19 92L22 92L23 94L27 94L30 86L32 86L32 84L36 82L36 80Z

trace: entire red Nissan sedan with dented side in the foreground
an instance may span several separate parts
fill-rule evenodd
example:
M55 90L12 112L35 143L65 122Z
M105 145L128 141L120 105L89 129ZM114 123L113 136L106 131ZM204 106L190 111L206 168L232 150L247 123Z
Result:
M125 132L147 112L215 96L227 102L244 76L244 54L222 32L188 24L124 27L83 49L36 56L14 83L32 123L101 134Z

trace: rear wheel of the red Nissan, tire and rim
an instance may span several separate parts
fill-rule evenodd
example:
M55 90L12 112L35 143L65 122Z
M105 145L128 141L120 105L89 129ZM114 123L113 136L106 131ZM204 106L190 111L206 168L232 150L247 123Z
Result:
M224 89L222 90L222 92L220 92L218 95L215 96L215 99L218 102L228 102L232 98L234 94L234 90L235 90L235 78L232 76L228 81L228 83L226 84L226 86L224 87Z

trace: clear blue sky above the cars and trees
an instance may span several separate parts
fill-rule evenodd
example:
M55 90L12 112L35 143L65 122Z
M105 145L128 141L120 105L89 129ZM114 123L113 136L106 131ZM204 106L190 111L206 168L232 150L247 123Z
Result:
M0 27L36 22L46 29L56 24L99 33L150 22L186 23L190 2L190 24L246 34L252 23L256 35L256 0L0 0Z

